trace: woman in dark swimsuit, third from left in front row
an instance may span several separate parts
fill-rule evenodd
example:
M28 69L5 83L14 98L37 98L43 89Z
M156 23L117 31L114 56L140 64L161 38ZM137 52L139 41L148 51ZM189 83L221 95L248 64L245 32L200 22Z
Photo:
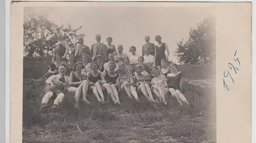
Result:
M105 80L104 74L100 72L98 64L93 61L91 64L92 71L87 73L87 80L89 82L89 89L93 91L94 96L98 102L105 103L105 97L102 89L106 89L109 95L112 93L111 85ZM99 97L99 94L100 97Z

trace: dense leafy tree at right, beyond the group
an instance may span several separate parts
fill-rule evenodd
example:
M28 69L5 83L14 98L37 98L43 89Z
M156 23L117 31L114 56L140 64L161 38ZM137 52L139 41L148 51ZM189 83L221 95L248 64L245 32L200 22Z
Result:
M187 41L181 40L175 56L180 63L205 65L215 63L215 18L209 15L197 28L190 28Z

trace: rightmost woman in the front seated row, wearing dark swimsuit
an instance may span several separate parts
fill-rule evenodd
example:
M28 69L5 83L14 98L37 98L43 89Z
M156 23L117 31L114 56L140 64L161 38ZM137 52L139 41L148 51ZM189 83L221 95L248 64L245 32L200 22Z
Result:
M181 93L182 91L182 72L178 71L178 65L175 63L170 64L170 70L172 73L167 75L167 83L170 93L177 98L177 100L181 100L187 105L189 105L185 96ZM180 102L180 101L178 101Z

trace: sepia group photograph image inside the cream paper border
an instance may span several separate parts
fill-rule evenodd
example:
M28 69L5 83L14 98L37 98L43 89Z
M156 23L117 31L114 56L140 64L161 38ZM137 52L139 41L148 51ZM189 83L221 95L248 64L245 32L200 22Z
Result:
M119 4L24 7L23 142L217 142L214 8Z

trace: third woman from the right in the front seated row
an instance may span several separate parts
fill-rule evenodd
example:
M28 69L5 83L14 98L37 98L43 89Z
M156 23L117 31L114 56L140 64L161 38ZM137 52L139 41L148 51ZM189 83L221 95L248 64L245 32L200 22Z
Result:
M142 92L143 95L147 98L147 100L155 102L153 99L152 91L150 88L150 85L148 85L147 82L151 82L151 78L147 78L147 76L142 75L142 67L140 65L137 65L135 67L135 82L136 82L136 87L138 92Z

